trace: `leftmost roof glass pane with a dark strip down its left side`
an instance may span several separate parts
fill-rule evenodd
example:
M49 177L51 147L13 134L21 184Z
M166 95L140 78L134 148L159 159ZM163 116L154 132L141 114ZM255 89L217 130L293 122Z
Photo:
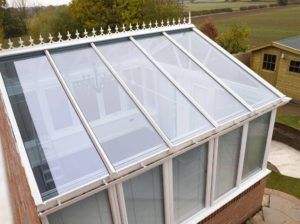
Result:
M45 56L0 72L44 200L107 174Z

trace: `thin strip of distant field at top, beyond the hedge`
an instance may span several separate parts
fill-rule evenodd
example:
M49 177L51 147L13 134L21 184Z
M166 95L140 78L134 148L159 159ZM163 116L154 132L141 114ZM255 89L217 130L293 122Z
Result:
M186 11L202 11L210 9L232 8L233 10L239 10L242 6L251 5L269 5L276 3L275 1L263 1L263 2L205 2L205 3L186 3Z

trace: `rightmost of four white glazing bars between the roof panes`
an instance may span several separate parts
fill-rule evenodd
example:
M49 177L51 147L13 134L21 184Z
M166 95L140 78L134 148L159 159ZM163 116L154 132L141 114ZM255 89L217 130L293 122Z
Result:
M209 71L197 58L190 54L185 48L183 48L177 41L175 41L169 34L163 32L165 37L167 37L177 48L179 48L184 54L186 54L190 59L192 59L198 66L200 66L206 74L213 78L219 85L221 85L227 92L229 92L235 99L237 99L244 107L246 107L250 112L254 112L252 106L250 106L244 99L237 95L231 88L229 88L220 78Z

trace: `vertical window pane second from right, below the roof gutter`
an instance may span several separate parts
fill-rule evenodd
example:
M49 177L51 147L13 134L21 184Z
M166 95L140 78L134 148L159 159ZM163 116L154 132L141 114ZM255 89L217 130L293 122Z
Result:
M215 199L235 187L243 128L219 137Z

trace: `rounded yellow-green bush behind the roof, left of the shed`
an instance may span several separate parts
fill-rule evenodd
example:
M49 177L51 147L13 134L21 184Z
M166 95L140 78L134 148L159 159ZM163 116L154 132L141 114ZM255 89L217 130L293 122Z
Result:
M249 47L249 28L244 24L234 24L229 30L222 33L217 43L231 54L245 52Z

